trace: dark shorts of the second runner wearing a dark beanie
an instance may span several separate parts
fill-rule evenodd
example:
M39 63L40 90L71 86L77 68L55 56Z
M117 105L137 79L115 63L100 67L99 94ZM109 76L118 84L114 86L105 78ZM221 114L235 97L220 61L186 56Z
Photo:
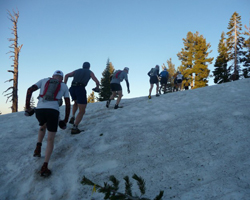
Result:
M79 104L87 104L87 93L85 86L71 86L69 88L69 92L74 101Z

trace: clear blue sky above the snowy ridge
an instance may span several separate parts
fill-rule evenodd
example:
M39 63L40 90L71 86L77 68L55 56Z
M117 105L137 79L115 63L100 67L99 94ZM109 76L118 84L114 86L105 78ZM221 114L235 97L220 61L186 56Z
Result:
M0 0L0 111L11 112L12 105L6 103L7 93L3 93L12 86L12 82L5 82L12 78L7 70L13 65L11 54L6 54L11 45L8 38L13 37L8 10L19 10L18 42L23 47L19 54L18 110L22 111L28 87L52 76L55 70L67 74L81 68L85 61L90 62L99 80L108 59L115 69L129 67L130 94L123 82L123 98L147 96L147 72L156 64L167 65L170 58L177 69L181 64L177 53L189 31L198 31L206 38L215 61L221 33L227 32L235 11L242 25L249 27L249 6L248 0ZM211 71L214 61L208 66ZM209 85L213 85L213 78ZM90 81L88 95L93 87Z

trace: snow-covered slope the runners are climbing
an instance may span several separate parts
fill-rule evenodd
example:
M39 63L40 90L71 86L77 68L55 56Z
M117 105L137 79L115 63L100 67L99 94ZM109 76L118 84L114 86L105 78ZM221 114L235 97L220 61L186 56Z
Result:
M145 198L162 200L248 200L250 196L250 79L195 90L90 103L71 135L58 129L48 165L33 157L38 122L24 111L0 115L0 199L100 200L83 176L96 184L114 175L124 191L125 176L139 195L133 174L146 183ZM164 105L164 106L163 106ZM60 107L64 118L65 107ZM15 123L13 123L15 122Z

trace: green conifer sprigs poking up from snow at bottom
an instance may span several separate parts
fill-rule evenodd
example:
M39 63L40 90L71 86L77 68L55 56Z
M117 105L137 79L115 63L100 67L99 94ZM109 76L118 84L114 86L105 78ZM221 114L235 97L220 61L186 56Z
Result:
M137 185L139 187L139 190L141 192L141 196L133 196L132 194L132 183L129 180L128 176L125 176L123 179L125 181L125 193L118 192L119 190L119 181L115 178L115 176L110 176L109 181L112 182L112 184L108 184L107 182L104 182L104 186L100 186L98 184L93 183L91 180L83 177L81 184L83 185L91 185L96 188L99 193L103 193L105 195L104 199L109 200L150 200L148 198L144 198L146 187L145 187L145 181L134 174L132 176L134 180L137 181ZM154 200L162 200L164 191L160 191L160 193L154 198Z

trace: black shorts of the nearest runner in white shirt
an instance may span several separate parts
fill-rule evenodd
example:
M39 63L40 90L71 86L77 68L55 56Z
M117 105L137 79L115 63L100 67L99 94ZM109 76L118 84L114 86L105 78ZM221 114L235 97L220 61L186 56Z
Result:
M36 109L36 118L39 121L39 126L46 124L48 131L57 132L59 111L54 109Z

